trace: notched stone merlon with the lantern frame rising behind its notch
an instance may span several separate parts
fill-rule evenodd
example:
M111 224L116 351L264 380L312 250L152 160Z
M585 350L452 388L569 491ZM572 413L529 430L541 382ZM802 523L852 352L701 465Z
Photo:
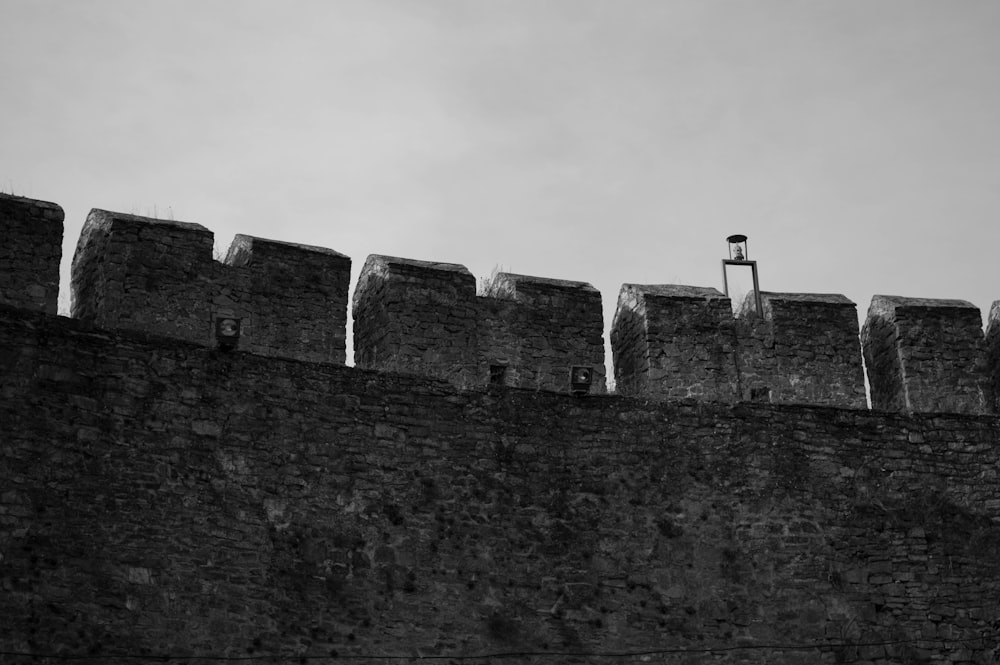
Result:
M618 389L661 399L864 408L857 312L840 295L747 295L734 319L712 288L626 284L611 330Z

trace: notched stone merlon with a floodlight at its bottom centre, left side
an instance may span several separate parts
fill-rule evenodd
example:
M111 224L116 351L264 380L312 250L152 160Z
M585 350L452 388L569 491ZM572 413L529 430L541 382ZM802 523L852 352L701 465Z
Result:
M345 361L350 259L239 235L225 263L198 224L92 210L73 257L73 316L214 345L219 317L241 319L238 348Z

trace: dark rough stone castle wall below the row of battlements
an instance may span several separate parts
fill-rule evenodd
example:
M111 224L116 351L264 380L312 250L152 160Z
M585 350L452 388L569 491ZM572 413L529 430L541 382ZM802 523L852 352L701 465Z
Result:
M458 391L7 308L0 348L10 662L998 654L994 417Z

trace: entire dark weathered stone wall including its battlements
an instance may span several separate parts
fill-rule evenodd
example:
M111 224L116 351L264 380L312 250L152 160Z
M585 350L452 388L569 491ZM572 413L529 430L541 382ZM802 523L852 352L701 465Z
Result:
M734 319L714 289L626 285L638 398L577 399L553 393L603 369L590 285L501 274L484 298L462 266L370 257L359 356L411 372L379 373L329 362L347 257L211 247L94 211L83 320L0 304L0 661L997 661L1000 418L941 411L973 385L996 408L1000 302L985 339L961 301L870 317L880 385L918 411L888 413L854 408L842 296ZM31 262L52 255L0 284ZM212 347L217 316L252 353ZM532 389L453 385L503 363Z

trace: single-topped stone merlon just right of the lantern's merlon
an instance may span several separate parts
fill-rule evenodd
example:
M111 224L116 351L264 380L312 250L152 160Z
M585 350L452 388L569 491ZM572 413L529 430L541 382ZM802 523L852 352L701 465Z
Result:
M989 412L982 318L972 304L877 295L861 341L872 408Z

